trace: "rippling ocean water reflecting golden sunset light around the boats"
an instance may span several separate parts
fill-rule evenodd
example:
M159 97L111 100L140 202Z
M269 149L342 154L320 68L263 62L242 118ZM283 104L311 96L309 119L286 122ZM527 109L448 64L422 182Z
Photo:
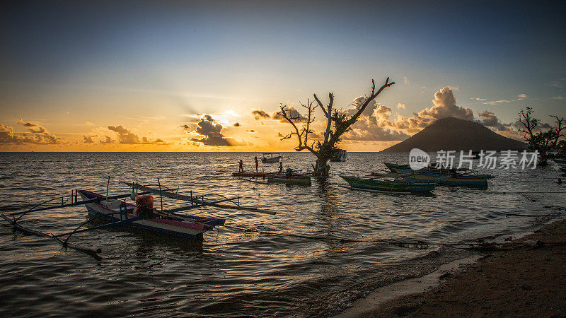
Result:
M204 242L126 230L71 238L103 249L100 260L0 220L0 311L35 317L329 316L376 287L470 254L450 247L397 247L383 239L507 237L537 228L550 219L543 215L566 206L565 186L556 184L560 173L553 165L489 170L495 179L487 189L439 187L433 196L415 196L354 191L337 176L313 179L312 187L231 177L239 159L250 170L255 155L260 153L0 153L1 213L71 189L104 193L109 175L110 194L129 192L121 182L156 184L159 178L180 192L239 194L243 205L277 212L192 211L226 218L233 227L205 233ZM309 153L284 153L284 158L285 167L297 170L314 161ZM349 153L347 162L332 163L331 171L366 175L384 169L383 161L406 158L406 153ZM272 171L277 164L261 168ZM165 208L180 204L164 201ZM77 206L30 213L21 223L57 233L84 220L86 209Z

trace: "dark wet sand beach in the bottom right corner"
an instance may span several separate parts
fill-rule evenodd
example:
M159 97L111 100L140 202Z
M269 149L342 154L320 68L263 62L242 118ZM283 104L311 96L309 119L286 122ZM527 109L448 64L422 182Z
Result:
M560 244L529 246L533 241ZM524 245L379 288L339 316L565 317L566 220L513 242ZM431 283L431 278L440 283Z

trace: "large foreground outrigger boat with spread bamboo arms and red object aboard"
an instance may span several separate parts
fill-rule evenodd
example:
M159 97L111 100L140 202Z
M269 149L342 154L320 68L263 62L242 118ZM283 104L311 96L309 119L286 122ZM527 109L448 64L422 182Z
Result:
M230 198L221 196L220 194L204 194L200 196L193 196L192 192L190 192L190 195L178 194L171 189L162 187L161 184L159 184L158 189L146 187L134 182L127 185L132 189L132 193L108 196L107 189L107 193L104 196L102 194L97 194L95 192L90 192L87 190L76 190L70 196L70 204L67 204L64 201L66 198L68 201L69 196L63 196L56 198L62 200L62 203L57 206L45 206L45 204L54 201L54 199L51 199L37 204L33 206L33 208L30 208L26 211L14 212L7 215L0 214L0 216L18 230L28 232L29 234L37 235L40 237L49 237L52 240L63 245L63 247L76 249L78 251L86 252L87 254L91 254L97 258L100 258L98 256L98 253L101 252L100 248L84 247L81 245L71 244L68 242L71 235L80 232L98 230L101 228L125 226L127 228L135 228L143 230L145 232L154 232L163 235L202 240L204 232L212 230L218 225L224 225L226 220L223 218L191 216L180 212L193 208L202 208L204 206L214 206L218 208L232 208L238 210L255 211L271 215L275 214L275 212L262 210L260 208L241 206L239 196ZM150 198L148 194L158 194L160 196L161 209L153 207L153 197ZM79 196L81 198L81 201L79 201ZM210 199L211 196L216 196L218 199L212 200ZM130 199L135 199L136 204L127 203L125 199L128 197ZM190 202L190 205L163 210L163 197L180 201L187 201ZM144 204L144 206L141 206L141 201L146 202L148 200L151 201L151 204ZM224 204L224 202L230 202L233 205ZM80 205L86 206L86 210L88 211L88 214L91 216L91 218L81 223L70 232L64 232L57 235L54 235L52 233L47 234L45 232L40 232L38 230L28 228L25 225L21 225L20 223L21 218L28 213ZM94 220L106 220L108 223L93 226L91 228L83 228L83 226L93 222ZM61 237L65 238L61 239Z

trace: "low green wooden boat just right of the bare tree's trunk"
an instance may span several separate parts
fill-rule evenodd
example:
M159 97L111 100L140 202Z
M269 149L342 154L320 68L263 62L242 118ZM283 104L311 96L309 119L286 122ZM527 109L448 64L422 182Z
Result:
M362 189L371 192L427 194L434 190L436 185L429 182L408 182L402 179L348 177L345 175L341 175L340 177L345 179L352 189Z

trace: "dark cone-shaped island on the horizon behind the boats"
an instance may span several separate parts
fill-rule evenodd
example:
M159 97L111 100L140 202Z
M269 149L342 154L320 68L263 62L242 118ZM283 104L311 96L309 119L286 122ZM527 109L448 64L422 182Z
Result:
M412 148L423 151L521 151L527 143L496 134L491 129L456 117L438 119L405 141L383 150L386 153L409 152Z

